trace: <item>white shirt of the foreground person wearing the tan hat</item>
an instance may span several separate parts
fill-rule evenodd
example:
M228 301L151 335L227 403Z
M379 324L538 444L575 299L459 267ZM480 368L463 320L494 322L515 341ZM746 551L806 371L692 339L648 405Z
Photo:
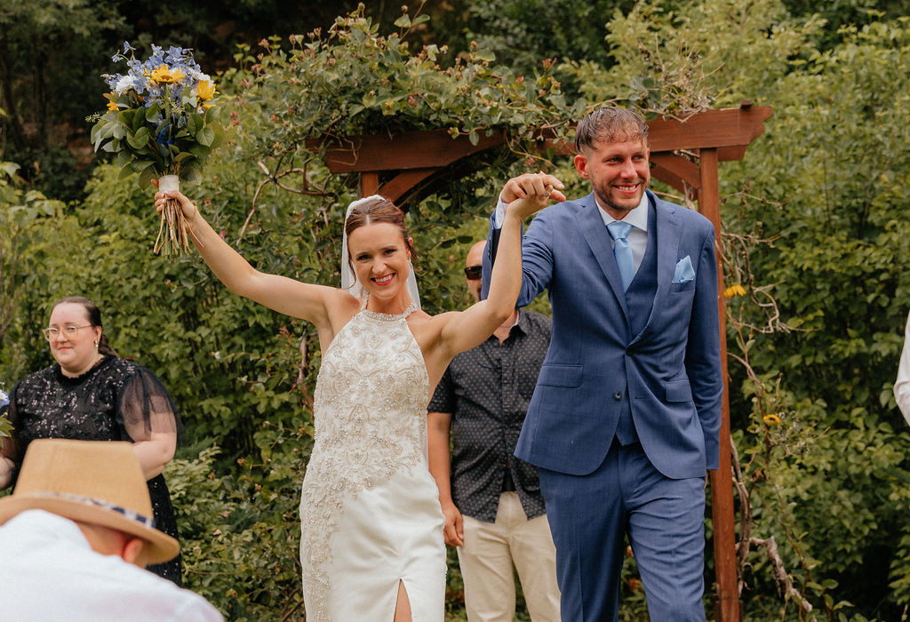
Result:
M32 509L0 527L0 618L10 622L223 622L205 598L92 550L73 521Z

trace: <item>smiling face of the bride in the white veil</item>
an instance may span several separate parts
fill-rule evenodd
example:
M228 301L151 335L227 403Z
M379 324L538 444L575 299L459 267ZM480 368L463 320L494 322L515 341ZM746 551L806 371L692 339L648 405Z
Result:
M398 226L360 226L348 236L348 250L354 274L371 296L389 299L404 288L410 251Z

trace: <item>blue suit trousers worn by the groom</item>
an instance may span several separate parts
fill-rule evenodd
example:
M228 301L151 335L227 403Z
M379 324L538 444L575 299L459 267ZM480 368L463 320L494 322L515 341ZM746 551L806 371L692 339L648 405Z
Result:
M652 622L704 621L704 477L664 477L615 439L590 475L540 474L563 622L616 622L626 537Z

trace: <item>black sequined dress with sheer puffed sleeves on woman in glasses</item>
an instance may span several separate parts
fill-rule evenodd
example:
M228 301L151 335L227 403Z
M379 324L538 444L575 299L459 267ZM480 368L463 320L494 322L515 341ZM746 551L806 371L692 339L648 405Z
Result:
M177 408L161 381L145 367L106 355L82 376L64 376L59 365L19 382L10 395L7 418L14 426L16 465L35 438L93 441L148 440L153 433L177 433ZM156 527L177 538L177 520L164 476L148 480ZM149 566L181 585L180 556Z

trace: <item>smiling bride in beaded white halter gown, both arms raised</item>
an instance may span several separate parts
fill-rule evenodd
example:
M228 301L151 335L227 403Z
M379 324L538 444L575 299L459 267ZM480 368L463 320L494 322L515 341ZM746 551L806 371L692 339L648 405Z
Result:
M311 620L443 619L446 555L436 485L426 463L426 406L453 356L511 314L521 286L521 222L565 200L539 175L514 189L501 228L490 296L462 312L420 310L412 239L381 196L345 219L342 287L261 273L179 192L199 255L230 291L312 322L322 364L315 444L300 502L300 562ZM346 252L347 251L347 252Z

